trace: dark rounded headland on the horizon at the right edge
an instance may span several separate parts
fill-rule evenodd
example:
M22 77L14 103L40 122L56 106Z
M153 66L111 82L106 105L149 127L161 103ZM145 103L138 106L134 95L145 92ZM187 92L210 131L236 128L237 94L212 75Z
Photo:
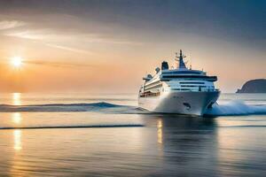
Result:
M266 80L257 79L246 81L241 89L238 89L237 93L266 93Z

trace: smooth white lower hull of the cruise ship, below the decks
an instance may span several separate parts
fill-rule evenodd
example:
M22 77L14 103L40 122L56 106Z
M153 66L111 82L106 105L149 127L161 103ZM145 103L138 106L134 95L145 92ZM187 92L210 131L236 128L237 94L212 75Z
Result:
M219 95L219 91L171 91L160 96L138 97L138 106L149 112L202 116L212 104L215 104Z

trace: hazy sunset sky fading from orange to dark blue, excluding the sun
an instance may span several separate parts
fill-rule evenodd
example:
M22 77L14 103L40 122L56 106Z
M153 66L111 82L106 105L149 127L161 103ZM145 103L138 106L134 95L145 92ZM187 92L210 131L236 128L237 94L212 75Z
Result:
M266 78L265 19L262 0L1 0L0 91L137 93L183 50L235 92Z

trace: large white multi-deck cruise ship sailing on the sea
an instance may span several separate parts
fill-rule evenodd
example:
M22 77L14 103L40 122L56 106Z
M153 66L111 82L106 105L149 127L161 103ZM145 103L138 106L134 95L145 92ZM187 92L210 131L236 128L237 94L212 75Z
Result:
M149 112L177 113L202 116L217 101L220 91L215 89L216 76L187 68L185 56L176 53L177 68L169 68L163 61L152 76L147 74L139 89L138 106Z

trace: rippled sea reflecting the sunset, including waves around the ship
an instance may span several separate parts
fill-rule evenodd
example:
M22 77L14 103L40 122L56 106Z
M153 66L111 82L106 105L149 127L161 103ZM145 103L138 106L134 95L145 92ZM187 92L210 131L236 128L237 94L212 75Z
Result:
M222 94L203 118L134 94L1 94L0 176L265 176L266 94Z

